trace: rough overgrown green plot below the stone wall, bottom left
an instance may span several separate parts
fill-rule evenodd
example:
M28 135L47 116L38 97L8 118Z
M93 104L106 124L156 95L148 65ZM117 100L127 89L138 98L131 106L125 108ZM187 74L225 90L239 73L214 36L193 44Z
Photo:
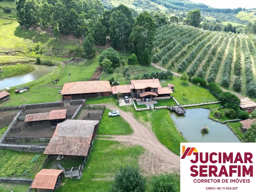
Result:
M0 177L34 178L39 171L47 155L42 153L29 153L0 149ZM31 163L35 155L39 155L34 163ZM28 170L26 172L26 170Z

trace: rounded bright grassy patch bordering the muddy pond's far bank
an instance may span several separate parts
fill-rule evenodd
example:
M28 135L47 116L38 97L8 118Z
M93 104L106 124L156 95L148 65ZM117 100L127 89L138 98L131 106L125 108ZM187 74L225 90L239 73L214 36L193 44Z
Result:
M10 66L2 66L2 71L0 73L0 78L12 77L16 75L21 75L25 73L29 73L35 70L33 65L29 64L17 64L17 65L10 65Z

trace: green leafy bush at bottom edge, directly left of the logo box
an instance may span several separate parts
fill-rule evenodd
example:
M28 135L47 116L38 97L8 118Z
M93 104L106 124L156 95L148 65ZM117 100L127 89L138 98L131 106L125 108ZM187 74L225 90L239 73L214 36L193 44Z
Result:
M177 192L176 181L173 174L155 175L151 180L152 192Z

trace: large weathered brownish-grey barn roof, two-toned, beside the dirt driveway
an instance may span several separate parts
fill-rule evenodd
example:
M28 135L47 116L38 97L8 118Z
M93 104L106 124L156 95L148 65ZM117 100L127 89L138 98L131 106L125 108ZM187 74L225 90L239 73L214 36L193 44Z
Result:
M98 123L71 119L58 123L44 154L87 156Z

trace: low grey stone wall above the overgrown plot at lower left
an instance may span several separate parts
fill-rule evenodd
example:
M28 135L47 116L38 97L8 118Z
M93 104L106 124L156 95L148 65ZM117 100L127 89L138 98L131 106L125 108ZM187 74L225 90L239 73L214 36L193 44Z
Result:
M46 146L0 144L0 148L24 152L44 152Z

